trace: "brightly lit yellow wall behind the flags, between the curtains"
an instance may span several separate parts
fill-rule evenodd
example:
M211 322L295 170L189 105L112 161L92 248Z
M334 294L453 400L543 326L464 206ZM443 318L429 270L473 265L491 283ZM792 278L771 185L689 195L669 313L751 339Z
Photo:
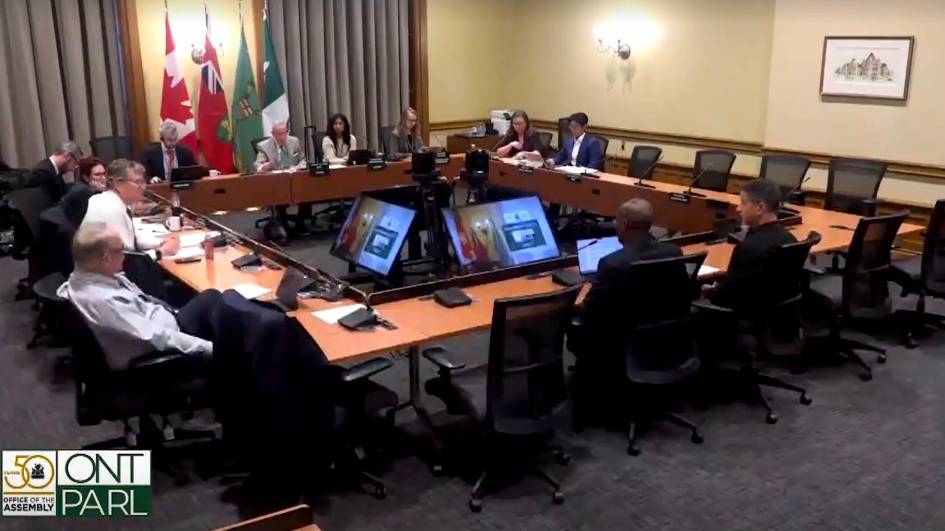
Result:
M223 43L220 70L228 104L232 104L233 81L236 77L236 56L239 51L239 9L235 0L208 0L214 43ZM164 76L164 6L160 0L139 0L138 35L141 40L141 60L145 71L145 97L147 101L147 123L152 140L158 138L161 123L161 93ZM200 67L190 59L191 43L203 47L204 16L203 2L197 0L168 0L167 9L171 18L171 31L177 44L184 80L197 118L200 92ZM243 2L243 20L249 59L253 72L256 64L255 27L252 21L252 3Z

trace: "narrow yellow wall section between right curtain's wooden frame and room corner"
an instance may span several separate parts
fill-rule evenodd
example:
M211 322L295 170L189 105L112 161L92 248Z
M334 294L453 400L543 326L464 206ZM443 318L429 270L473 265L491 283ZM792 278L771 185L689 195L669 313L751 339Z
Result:
M481 119L503 108L507 74L500 63L518 1L427 2L430 122Z

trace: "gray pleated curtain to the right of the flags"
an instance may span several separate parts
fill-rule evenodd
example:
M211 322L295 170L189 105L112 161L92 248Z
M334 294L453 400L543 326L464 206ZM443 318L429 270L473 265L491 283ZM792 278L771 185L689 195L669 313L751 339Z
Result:
M380 148L410 97L409 1L269 0L294 134L344 112L358 147Z

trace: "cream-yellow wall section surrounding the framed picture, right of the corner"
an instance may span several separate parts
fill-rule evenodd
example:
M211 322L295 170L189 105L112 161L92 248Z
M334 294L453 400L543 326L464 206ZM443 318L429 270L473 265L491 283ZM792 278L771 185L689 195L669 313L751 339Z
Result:
M825 35L915 36L907 101L821 97ZM765 143L945 165L942 49L942 0L779 0Z

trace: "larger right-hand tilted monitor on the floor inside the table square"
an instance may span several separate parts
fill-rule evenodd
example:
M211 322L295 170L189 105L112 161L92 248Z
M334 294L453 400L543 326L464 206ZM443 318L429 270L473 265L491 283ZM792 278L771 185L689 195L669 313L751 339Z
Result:
M560 257L537 196L443 209L464 271L521 266Z

